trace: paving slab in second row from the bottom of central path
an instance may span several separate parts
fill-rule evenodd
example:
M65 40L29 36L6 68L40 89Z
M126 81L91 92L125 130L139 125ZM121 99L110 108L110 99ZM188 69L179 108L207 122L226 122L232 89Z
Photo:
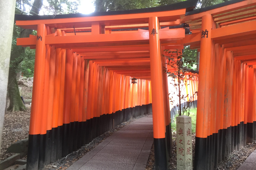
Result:
M135 164L136 156L114 156L114 155L95 155L89 162L112 162L112 163L125 163Z

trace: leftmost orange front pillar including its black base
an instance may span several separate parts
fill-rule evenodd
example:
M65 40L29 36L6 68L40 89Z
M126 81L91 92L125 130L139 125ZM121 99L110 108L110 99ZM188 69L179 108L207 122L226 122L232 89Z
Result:
M33 98L30 114L29 127L29 145L27 154L27 170L38 168L38 156L40 146L41 119L43 111L43 91L45 78L45 36L47 35L44 24L37 25L37 37L41 37L36 41L35 69L33 83Z

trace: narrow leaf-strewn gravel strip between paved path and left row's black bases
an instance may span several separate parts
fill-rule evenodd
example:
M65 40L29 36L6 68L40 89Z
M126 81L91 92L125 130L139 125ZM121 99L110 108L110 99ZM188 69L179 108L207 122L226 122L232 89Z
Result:
M150 114L147 114L150 115ZM95 148L98 144L100 144L104 139L106 139L107 137L111 136L114 132L117 132L119 129L123 128L124 126L130 124L131 122L140 119L144 116L147 115L143 115L143 116L139 116L137 118L133 118L130 119L127 122L122 123L121 125L118 125L117 127L115 127L112 130L109 130L107 132L105 132L104 134L96 137L95 139L93 139L93 141L91 141L89 144L82 146L79 150L67 155L66 157L63 157L61 159L59 159L57 162L54 162L52 164L47 165L44 170L62 170L62 169L67 169L69 166L71 166L74 162L76 162L78 159L80 159L81 157L83 157L87 152L89 152L90 150L92 150L93 148Z

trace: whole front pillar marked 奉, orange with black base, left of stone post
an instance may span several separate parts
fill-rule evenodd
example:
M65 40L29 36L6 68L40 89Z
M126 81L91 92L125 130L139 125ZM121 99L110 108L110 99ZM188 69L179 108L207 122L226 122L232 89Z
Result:
M163 66L159 40L159 21L149 18L150 71L152 81L152 112L156 170L167 169L165 143L165 108L163 96Z

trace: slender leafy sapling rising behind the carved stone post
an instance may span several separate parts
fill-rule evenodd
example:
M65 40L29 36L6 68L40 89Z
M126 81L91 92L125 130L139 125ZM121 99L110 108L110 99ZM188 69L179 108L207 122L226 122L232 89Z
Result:
M191 59L190 57L185 58L184 55L182 55L182 53L179 50L165 51L168 52L168 54L171 54L170 56L163 55L163 57L166 57L166 59L168 60L167 65L169 65L172 70L170 71L167 68L164 68L164 71L168 74L168 77L172 78L172 82L170 84L172 84L173 87L175 88L176 96L178 97L178 101L175 101L176 99L174 98L174 92L174 94L172 94L170 97L170 102L171 104L176 104L176 106L178 107L179 116L184 114L189 116L191 104L197 92L195 92L190 97L188 94L182 94L182 92L183 89L189 85L188 80L193 77L191 76L191 74L188 74L191 71L193 72L193 70L189 69L187 66L193 65L196 62L196 60L195 58ZM188 97L189 100L187 101ZM186 101L187 103L185 103ZM185 104L182 106L182 103Z

